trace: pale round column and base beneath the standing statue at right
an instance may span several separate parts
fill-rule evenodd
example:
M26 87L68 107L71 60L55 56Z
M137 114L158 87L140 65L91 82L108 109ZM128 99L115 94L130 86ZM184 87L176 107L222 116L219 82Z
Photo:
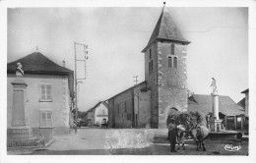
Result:
M222 130L222 122L219 118L219 95L211 93L212 95L212 117L209 121L210 129L212 132L220 132Z

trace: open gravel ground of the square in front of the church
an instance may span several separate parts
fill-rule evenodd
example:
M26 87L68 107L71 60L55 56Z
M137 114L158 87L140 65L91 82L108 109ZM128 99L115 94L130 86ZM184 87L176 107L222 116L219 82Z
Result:
M8 154L26 155L248 155L248 141L205 140L206 151L196 151L195 141L188 139L185 150L169 151L166 130L81 129L78 134L55 136L45 148L9 148ZM227 151L225 145L240 146Z

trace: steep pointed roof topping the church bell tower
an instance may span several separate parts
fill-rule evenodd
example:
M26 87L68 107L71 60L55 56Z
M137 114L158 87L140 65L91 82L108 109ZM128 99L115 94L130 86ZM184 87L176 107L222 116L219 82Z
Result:
M170 14L164 7L162 8L162 11L160 13L160 19L151 35L151 38L147 46L142 50L142 52L146 52L148 47L157 39L165 41L175 41L185 44L190 43L182 36L179 28L176 27L174 21L170 17Z

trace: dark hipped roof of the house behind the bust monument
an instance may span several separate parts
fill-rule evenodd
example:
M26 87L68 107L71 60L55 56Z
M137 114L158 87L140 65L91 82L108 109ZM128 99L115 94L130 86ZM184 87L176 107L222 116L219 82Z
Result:
M63 68L40 52L33 52L19 60L7 64L7 73L14 74L16 72L17 63L23 65L23 71L26 74L47 74L47 75L68 75L69 89L73 92L74 87L74 72Z

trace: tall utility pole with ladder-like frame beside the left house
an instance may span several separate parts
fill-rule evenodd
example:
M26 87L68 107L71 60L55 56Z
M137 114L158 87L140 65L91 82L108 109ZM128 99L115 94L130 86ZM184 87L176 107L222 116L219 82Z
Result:
M77 59L77 52L76 52L76 45L84 46L84 53L85 53L85 59L84 60L78 60ZM86 61L88 59L87 54L88 51L86 50L88 48L88 45L74 42L74 49L75 49L75 134L77 134L77 123L78 123L78 83L82 82L81 80L86 80ZM82 61L85 62L85 78L78 79L77 77L77 62Z

